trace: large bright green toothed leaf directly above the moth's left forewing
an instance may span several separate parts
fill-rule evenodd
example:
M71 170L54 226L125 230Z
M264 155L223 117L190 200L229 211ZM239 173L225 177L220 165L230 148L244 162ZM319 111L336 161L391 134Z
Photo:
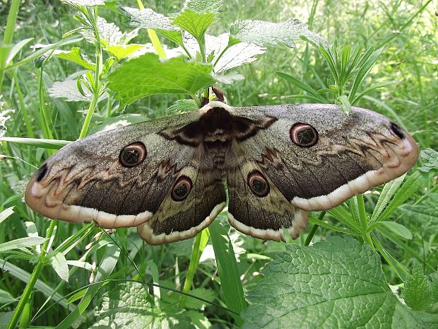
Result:
M124 104L165 93L186 93L194 98L196 91L215 83L211 69L211 65L186 62L184 57L161 62L156 54L144 54L109 74L108 87Z

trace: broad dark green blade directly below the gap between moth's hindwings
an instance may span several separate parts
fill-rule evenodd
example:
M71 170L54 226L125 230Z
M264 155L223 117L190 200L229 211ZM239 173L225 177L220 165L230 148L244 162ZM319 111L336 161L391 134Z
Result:
M225 304L232 311L240 313L247 307L247 302L244 299L242 281L230 237L220 221L213 221L208 229L215 250Z

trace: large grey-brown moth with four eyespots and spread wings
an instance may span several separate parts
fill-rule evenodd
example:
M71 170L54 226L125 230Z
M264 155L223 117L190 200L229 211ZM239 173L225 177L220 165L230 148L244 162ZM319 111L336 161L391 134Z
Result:
M65 146L25 201L52 219L136 226L150 244L195 236L228 204L235 229L280 241L283 228L299 236L307 212L397 178L417 158L413 138L370 110L213 101Z

